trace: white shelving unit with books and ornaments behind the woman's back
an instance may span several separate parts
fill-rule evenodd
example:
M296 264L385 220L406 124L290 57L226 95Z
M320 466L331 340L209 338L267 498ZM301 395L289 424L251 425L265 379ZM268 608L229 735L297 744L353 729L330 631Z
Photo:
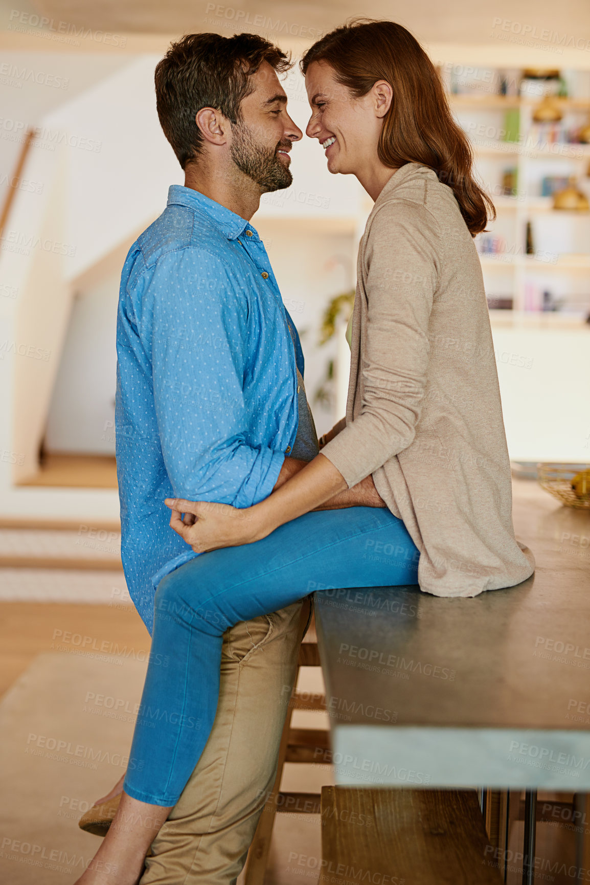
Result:
M583 77L587 75L584 74ZM581 78L583 81L583 77ZM590 116L587 96L552 99L570 126L583 125ZM491 87L490 87L491 88ZM515 311L540 309L547 291L559 309L590 313L590 212L555 210L553 198L540 196L545 176L574 176L590 197L590 144L538 143L533 112L540 98L529 96L448 96L456 119L470 135L479 181L492 196L497 217L480 235L499 237L502 251L480 251L488 297L511 298ZM505 112L519 113L517 141L502 141ZM502 194L502 173L516 169L515 196ZM526 227L533 231L532 255L526 254Z

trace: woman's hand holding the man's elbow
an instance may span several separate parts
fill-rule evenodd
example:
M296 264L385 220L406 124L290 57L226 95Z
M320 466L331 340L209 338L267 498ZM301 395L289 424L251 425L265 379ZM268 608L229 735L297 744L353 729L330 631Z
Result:
M251 507L239 510L229 504L185 501L183 498L166 498L164 503L172 510L171 527L195 553L218 550L220 547L238 547L263 537Z

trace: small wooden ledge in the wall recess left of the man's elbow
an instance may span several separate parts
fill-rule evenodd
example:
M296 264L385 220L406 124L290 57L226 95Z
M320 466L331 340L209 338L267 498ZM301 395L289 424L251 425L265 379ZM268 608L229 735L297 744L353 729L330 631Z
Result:
M117 489L117 464L111 456L47 454L38 473L19 485Z

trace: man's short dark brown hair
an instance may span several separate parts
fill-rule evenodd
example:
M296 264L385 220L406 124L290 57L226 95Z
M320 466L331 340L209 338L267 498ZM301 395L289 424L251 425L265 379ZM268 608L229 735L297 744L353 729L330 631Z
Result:
M237 123L242 100L254 90L249 77L264 62L278 73L291 67L286 53L257 34L188 34L171 44L156 66L156 106L183 169L203 148L197 112L212 107Z

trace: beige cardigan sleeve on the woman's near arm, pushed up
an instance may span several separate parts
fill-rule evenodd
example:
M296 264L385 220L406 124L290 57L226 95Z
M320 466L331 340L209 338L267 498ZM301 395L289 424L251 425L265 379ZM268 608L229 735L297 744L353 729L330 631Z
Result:
M440 239L431 212L407 200L387 202L371 221L359 292L368 316L359 366L361 411L321 451L349 488L414 439L425 396Z

